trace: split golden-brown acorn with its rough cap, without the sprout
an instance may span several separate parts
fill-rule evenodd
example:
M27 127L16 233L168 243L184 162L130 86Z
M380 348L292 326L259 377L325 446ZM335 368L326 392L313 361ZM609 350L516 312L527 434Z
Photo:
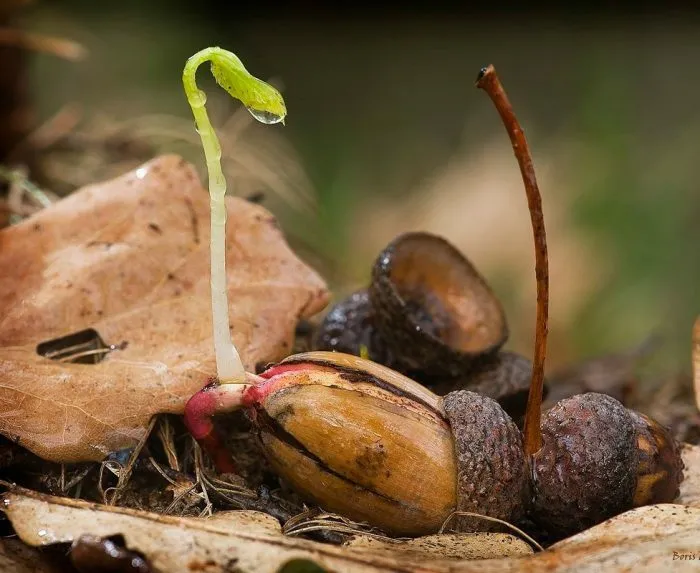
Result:
M520 432L493 400L456 392L443 401L393 370L331 352L292 356L261 376L248 402L262 449L324 510L407 536L435 533L456 510L522 515ZM460 527L488 529L474 518Z

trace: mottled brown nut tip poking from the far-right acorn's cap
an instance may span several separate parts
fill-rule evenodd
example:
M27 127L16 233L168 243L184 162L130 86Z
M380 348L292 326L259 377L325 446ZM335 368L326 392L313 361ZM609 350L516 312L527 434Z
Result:
M683 459L678 442L668 429L644 414L630 410L637 431L637 486L635 507L671 503L680 493Z

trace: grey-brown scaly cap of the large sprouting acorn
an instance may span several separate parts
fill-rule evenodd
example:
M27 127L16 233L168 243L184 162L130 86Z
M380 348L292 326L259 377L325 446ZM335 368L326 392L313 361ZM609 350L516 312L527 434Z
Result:
M522 435L497 402L467 390L443 399L457 458L457 511L479 513L513 523L528 499ZM493 526L475 517L450 522L459 531Z

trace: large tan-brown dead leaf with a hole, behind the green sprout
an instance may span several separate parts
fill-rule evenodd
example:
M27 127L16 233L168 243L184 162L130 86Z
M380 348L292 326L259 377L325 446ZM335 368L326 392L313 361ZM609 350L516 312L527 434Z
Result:
M229 314L247 368L286 356L294 327L326 304L322 279L274 217L227 198ZM54 461L134 445L156 413L181 413L215 373L209 197L164 156L0 231L0 433ZM38 354L94 329L97 364Z

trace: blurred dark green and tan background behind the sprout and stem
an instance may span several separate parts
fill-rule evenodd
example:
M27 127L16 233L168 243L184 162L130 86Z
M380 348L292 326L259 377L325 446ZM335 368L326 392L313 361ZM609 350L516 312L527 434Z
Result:
M228 48L283 88L288 122L274 129L308 174L316 208L305 213L275 197L266 204L319 261L334 261L319 265L338 295L366 282L394 235L430 230L494 285L510 346L529 354L529 216L503 127L474 89L478 70L493 63L544 195L550 364L633 347L654 332L664 340L659 367L689 371L700 310L696 14L236 8L211 0L33 3L21 16L27 29L89 50L78 63L33 57L39 121L74 103L85 121L167 114L189 122L185 59L208 45ZM236 104L201 81L223 124ZM196 146L165 148L202 163Z

